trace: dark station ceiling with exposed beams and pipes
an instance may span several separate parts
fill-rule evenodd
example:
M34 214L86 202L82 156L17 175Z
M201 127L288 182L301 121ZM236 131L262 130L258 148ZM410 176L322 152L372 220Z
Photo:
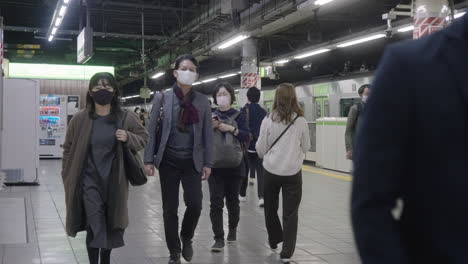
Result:
M0 0L0 12L8 29L5 32L5 56L12 62L75 64L77 36L70 32L78 32L86 25L84 4L88 2L90 25L94 32L115 34L113 37L94 38L95 55L88 63L115 66L124 95L133 95L143 85L142 13L148 69L167 70L165 76L152 82L152 87L164 89L174 81L169 71L169 61L183 52L194 51L201 58L202 76L238 71L242 60L240 46L223 52L212 52L206 47L222 39L226 33L245 28L255 30L290 14L295 15L297 6L305 1L240 0L238 2L243 2L240 10L204 20L202 14L210 14L213 7L221 3L220 0L70 0L70 8L59 30L67 32L58 34L53 42L47 41L46 33L57 0ZM295 23L255 36L259 61L273 61L284 54L368 29L384 29L386 22L382 20L382 14L398 4L409 2L335 0L310 11L307 17ZM457 7L468 5L468 1L464 0L454 2ZM270 14L275 16L269 17ZM392 39L334 50L311 59L295 60L277 68L279 80L263 79L262 82L264 86L273 86L280 82L333 78L362 69L372 71L386 45L410 35L398 34ZM228 81L236 85L239 76ZM207 85L199 89L209 92L210 87Z

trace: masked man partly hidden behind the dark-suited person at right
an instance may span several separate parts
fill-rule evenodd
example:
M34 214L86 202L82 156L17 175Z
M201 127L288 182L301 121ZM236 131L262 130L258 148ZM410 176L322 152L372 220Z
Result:
M365 84L361 86L358 90L359 96L361 97L361 102L355 104L351 107L348 114L348 122L346 124L346 133L345 133L345 144L346 144L346 158L349 160L353 159L353 140L354 134L358 128L359 116L364 109L364 106L369 98L370 86Z

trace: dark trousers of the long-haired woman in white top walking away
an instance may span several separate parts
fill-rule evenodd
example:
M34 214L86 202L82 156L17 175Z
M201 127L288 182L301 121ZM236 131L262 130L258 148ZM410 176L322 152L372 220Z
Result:
M283 227L278 217L279 193L283 193ZM265 222L268 239L283 242L281 256L290 258L296 249L299 204L302 198L302 172L278 176L265 170Z

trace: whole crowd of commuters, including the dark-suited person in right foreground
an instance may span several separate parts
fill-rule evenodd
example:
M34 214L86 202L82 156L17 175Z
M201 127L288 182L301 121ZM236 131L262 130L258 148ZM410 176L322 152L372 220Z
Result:
M370 86L362 86L361 102L350 109L345 140L346 156L355 165L352 222L365 264L468 262L467 180L461 177L468 157L467 32L465 16L429 38L392 46L377 72L371 99ZM151 116L144 109L123 110L111 74L92 77L87 107L68 127L62 168L66 231L70 236L86 231L91 264L110 263L112 249L124 245L131 177L125 153L143 149L146 174L159 171L169 264L193 258L204 180L210 192L212 251L225 247L224 203L227 242L237 241L249 174L257 178L268 243L272 250L283 243L280 258L290 262L298 232L302 163L310 148L295 87L280 84L267 115L258 104L257 88L249 89L248 104L236 110L234 89L219 83L212 94L215 108L193 89L198 68L191 55L177 58L177 81L171 90L156 94ZM441 84L444 93L439 92ZM418 94L428 96L423 101ZM180 184L187 208L179 231ZM404 209L395 216L398 199Z

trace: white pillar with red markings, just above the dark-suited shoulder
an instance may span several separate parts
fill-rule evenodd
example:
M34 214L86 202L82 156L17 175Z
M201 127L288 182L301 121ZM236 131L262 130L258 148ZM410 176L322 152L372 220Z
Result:
M449 14L447 0L416 0L413 38L419 39L445 28Z

